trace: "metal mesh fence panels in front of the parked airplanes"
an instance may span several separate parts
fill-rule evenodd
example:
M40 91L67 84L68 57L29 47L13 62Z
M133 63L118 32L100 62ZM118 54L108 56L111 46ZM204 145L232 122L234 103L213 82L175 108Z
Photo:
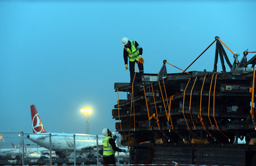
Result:
M0 133L0 165L102 164L105 137L86 134ZM116 139L116 146L127 146ZM129 164L129 151L116 152L116 164Z

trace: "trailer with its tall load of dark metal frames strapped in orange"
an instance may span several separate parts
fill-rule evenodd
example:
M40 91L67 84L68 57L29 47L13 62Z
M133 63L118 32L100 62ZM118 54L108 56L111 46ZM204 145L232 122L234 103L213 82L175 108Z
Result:
M131 164L256 165L256 55L247 61L244 51L239 62L234 54L231 65L215 39L213 72L167 74L164 60L158 74L136 74L133 83L115 83L116 92L127 93L112 116L121 144L130 147ZM246 144L238 144L239 139Z

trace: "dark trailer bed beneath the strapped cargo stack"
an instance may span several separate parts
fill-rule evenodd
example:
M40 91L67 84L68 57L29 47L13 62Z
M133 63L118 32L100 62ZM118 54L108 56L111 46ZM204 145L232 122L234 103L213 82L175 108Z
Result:
M256 165L255 145L130 144L130 163L195 165Z

